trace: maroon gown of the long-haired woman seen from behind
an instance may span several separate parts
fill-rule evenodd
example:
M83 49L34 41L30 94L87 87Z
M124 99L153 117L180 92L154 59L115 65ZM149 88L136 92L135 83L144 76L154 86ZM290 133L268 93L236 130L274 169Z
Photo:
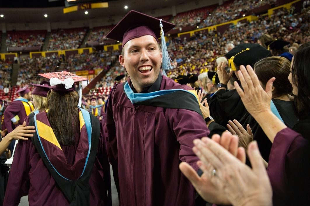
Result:
M29 124L29 117L26 123ZM110 184L110 168L102 128L101 126L95 164L89 179L90 205L107 205L106 202L109 201L104 199ZM76 157L79 143L80 132L77 132L73 145L60 145L70 165L73 165L75 158L79 158ZM77 169L81 170L81 168ZM4 205L18 205L24 195L28 195L29 205L70 205L31 140L18 142L8 185L10 187L7 187Z

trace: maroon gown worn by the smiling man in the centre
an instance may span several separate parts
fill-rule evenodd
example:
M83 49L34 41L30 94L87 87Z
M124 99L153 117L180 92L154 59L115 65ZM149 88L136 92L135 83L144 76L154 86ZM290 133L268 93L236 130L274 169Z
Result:
M163 76L157 90L177 85ZM132 104L123 84L114 86L106 107L108 155L120 205L195 205L194 188L179 163L198 170L192 148L194 139L209 134L204 119L195 111Z

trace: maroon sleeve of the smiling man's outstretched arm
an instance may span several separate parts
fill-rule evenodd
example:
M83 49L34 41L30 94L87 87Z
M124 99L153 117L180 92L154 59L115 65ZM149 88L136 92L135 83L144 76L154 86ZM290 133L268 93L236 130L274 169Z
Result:
M173 129L175 137L180 144L179 158L197 171L199 167L196 162L199 158L192 150L194 146L193 140L208 137L210 131L206 126L206 122L195 111L185 109L170 109L170 111L170 128Z

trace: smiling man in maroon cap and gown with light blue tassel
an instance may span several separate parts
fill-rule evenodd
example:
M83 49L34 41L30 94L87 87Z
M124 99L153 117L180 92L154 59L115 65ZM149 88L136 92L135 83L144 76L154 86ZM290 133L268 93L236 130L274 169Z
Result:
M130 76L114 86L106 103L120 205L195 205L195 191L178 165L185 161L198 170L193 140L209 130L196 92L159 74L161 63L163 69L170 65L159 25L159 19L130 11L107 35L122 41L119 61ZM175 25L161 26L168 31Z

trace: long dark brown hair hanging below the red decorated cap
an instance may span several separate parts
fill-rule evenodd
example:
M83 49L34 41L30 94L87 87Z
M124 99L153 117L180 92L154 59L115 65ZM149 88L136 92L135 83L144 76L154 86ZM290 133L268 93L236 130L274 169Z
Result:
M78 93L49 91L47 118L61 145L72 145L74 132L79 131Z

